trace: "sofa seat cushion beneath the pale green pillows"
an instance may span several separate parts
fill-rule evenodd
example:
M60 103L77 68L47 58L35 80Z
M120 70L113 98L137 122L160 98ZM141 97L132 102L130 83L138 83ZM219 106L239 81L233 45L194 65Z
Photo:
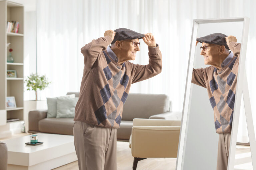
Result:
M38 124L39 131L43 133L73 135L73 118L45 118Z

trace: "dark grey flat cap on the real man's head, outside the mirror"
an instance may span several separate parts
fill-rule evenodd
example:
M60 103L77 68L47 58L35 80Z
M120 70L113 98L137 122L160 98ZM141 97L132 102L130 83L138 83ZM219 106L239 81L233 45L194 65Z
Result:
M131 39L141 39L145 37L144 34L137 33L127 28L118 28L114 30L116 32L114 40L111 42L111 45L115 43L117 40L131 40Z

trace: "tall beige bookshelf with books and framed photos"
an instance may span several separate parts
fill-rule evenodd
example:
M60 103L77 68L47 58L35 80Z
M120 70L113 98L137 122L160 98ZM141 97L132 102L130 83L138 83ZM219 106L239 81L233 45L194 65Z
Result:
M18 21L18 33L7 32L7 21ZM11 43L7 47L7 43ZM7 62L12 48L13 63ZM7 77L7 70L16 70L17 77ZM0 1L0 125L8 125L9 118L23 120L24 107L24 6ZM6 107L6 97L14 96L16 108ZM3 119L5 118L5 119Z

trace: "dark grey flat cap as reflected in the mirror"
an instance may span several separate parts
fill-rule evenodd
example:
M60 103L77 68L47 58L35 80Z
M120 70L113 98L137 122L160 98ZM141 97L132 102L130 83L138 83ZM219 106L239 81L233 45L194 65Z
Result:
M222 33L213 33L204 37L197 38L196 40L201 43L204 42L208 44L224 45L225 48L229 50L229 47L226 42L226 37L228 36Z

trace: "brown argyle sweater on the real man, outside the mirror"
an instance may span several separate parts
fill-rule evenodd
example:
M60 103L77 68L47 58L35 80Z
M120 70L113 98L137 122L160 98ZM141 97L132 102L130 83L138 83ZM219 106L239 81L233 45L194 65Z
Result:
M111 37L101 37L81 48L84 72L74 121L87 122L105 128L119 128L123 105L132 83L159 74L162 55L159 46L148 48L149 64L115 62L107 53Z

